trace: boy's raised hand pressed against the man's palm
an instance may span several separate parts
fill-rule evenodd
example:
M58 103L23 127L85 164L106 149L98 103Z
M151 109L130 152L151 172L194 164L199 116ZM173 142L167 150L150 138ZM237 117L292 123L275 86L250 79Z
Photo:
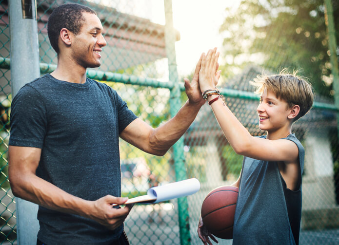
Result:
M201 56L199 86L202 93L217 86L221 71L217 72L219 67L217 48L210 49L206 55L203 53Z

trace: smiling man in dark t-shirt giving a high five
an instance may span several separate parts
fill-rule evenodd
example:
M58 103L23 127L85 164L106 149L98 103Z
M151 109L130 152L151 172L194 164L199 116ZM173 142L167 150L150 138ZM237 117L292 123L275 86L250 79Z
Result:
M14 195L39 204L38 244L128 244L123 222L131 206L120 198L119 136L163 155L204 104L198 77L188 101L157 129L137 118L120 96L86 77L106 45L96 13L79 4L56 8L48 36L57 69L26 84L12 102L9 178Z

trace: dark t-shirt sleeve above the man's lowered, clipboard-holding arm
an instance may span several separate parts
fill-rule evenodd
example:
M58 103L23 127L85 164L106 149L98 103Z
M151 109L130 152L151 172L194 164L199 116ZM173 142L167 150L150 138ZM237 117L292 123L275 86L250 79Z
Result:
M23 86L11 105L9 145L42 149L46 114L41 94L29 85Z

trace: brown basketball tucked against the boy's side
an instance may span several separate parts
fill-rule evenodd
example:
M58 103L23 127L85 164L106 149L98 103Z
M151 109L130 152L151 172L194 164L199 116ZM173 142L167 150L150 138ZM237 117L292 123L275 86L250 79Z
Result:
M201 206L203 225L216 237L233 238L234 213L239 188L221 186L211 190Z

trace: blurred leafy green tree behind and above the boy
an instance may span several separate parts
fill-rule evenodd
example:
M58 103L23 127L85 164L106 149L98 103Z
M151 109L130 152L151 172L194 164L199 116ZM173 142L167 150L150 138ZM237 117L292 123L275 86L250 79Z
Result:
M339 3L332 3L339 23ZM242 0L237 9L227 8L220 27L225 35L224 74L230 77L250 63L273 73L285 67L301 69L317 94L331 98L333 77L323 4L323 0Z

